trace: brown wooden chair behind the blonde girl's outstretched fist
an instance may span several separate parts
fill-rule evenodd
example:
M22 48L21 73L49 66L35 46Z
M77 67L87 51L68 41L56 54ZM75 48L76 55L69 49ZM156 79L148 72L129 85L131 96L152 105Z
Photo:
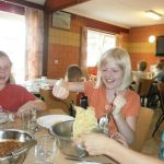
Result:
M59 99L52 95L52 92L49 90L39 89L39 94L43 101L45 101L48 109L60 108L63 109L67 114L69 114L70 101L77 99L77 93L70 93L67 99Z

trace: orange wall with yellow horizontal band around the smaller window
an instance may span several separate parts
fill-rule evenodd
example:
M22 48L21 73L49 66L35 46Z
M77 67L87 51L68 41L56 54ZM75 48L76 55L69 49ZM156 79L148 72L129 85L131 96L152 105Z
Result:
M51 24L51 20L49 22ZM140 60L148 61L149 70L150 65L154 65L159 59L162 59L162 57L155 57L155 43L150 44L148 38L150 35L164 35L164 24L127 30L72 15L70 31L55 28L49 25L48 78L63 78L69 65L80 63L81 32L83 26L119 34L119 46L128 50L133 70L137 69L137 62Z

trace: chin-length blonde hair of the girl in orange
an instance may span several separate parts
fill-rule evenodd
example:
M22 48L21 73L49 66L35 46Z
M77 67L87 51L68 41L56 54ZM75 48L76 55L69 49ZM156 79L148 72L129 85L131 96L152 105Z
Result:
M97 81L96 87L103 86L102 81L102 68L105 66L110 59L115 60L118 67L124 72L124 79L120 86L117 89L119 91L125 90L131 84L131 61L128 52L121 48L113 48L107 50L101 56L99 61L97 62Z

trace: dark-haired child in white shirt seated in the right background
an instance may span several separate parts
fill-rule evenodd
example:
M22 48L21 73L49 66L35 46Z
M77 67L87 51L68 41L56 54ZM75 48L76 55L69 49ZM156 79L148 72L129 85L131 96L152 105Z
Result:
M138 71L132 71L133 81L136 83L134 91L137 91L137 92L139 90L140 79L141 78L143 78L143 79L148 78L148 72L145 71L147 67L148 67L147 61L142 60L142 61L138 62Z

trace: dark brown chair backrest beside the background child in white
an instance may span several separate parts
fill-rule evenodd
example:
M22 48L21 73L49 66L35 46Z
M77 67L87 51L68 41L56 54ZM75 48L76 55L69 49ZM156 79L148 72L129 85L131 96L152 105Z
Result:
M140 96L148 96L152 83L153 83L152 79L140 79L138 94Z

